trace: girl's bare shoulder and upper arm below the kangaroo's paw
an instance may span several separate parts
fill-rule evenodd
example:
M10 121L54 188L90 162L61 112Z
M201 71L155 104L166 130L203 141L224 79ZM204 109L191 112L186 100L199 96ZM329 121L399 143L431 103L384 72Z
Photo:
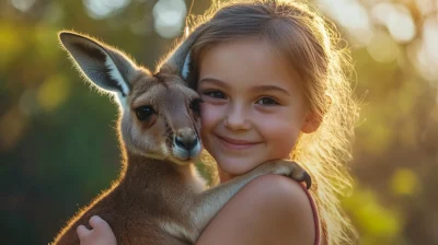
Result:
M197 244L315 244L313 213L299 183L279 175L260 176L219 211Z

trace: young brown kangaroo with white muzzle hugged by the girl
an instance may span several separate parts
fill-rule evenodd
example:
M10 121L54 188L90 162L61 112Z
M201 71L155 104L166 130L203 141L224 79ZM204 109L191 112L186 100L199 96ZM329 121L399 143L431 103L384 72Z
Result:
M201 102L183 74L196 31L154 73L89 36L61 32L59 39L83 77L119 104L124 168L108 190L68 222L54 244L79 244L76 229L89 226L96 214L108 222L117 244L195 244L223 205L260 175L280 174L310 187L303 168L278 160L206 189L193 164L201 151Z

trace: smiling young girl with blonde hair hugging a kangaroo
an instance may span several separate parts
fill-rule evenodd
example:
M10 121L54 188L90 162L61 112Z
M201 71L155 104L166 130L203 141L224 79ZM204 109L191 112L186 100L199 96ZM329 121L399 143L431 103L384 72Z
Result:
M357 115L339 37L307 3L252 0L215 5L192 49L189 84L204 101L201 139L220 182L274 159L301 163L309 192L283 176L247 184L197 244L341 244L353 229L338 195ZM99 217L81 244L116 244Z

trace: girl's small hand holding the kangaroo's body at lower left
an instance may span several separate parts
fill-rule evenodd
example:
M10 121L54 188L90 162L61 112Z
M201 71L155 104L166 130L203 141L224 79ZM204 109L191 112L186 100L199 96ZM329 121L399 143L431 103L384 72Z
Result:
M94 215L90 219L90 225L93 230L88 230L84 225L79 225L76 230L81 245L117 245L116 237L106 221Z

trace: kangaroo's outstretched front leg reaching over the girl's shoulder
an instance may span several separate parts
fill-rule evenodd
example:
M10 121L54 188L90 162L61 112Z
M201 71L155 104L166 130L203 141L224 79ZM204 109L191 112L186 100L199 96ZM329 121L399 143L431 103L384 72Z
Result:
M197 226L198 237L216 213L249 182L265 174L278 174L288 176L297 182L306 182L311 186L310 175L296 162L275 160L260 165L251 172L235 177L227 183L220 184L201 192L196 201L194 224Z

